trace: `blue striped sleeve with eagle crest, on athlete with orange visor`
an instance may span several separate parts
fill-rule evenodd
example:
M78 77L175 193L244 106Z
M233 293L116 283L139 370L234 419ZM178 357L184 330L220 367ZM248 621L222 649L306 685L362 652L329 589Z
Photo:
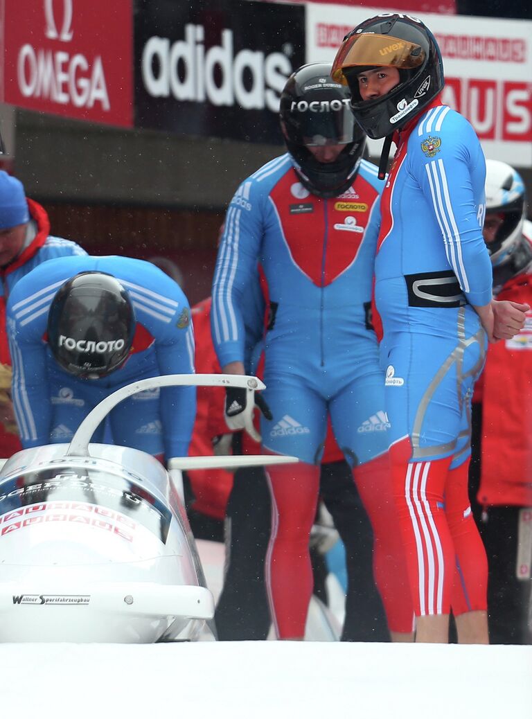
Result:
M480 142L469 122L454 112L437 134L418 137L414 131L410 142L417 180L434 209L449 265L467 301L486 305L492 298L492 265L482 238L485 160Z

